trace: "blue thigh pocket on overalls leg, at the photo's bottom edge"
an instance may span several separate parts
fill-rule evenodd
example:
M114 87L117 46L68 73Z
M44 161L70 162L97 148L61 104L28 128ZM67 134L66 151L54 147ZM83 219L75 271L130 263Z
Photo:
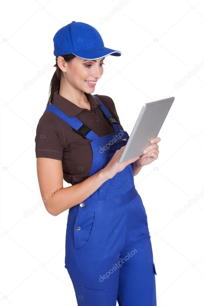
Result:
M72 282L77 305L83 306L83 305L108 305L108 295L107 290L93 290L88 289L83 286L77 285L75 282Z

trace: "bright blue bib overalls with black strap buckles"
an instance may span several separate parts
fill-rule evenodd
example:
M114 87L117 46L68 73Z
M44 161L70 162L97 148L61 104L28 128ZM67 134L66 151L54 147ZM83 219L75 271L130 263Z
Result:
M98 137L54 104L45 110L91 140L89 177L104 168L129 138L104 104L98 106L113 126L112 134ZM135 189L131 164L82 203L69 208L65 268L79 306L115 306L116 301L119 306L156 306L156 271L147 215Z

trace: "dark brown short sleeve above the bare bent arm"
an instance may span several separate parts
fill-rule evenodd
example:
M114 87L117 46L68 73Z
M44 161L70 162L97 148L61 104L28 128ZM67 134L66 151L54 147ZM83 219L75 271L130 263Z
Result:
M62 160L63 135L53 118L45 113L39 119L35 136L35 155Z

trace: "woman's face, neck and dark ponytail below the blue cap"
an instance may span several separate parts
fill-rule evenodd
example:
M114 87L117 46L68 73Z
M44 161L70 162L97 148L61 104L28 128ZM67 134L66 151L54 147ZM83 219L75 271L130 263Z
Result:
M103 74L104 59L105 57L97 60L83 59L74 54L57 56L54 65L56 71L50 83L50 97L47 106L52 103L54 91L58 88L60 88L59 95L76 105L82 106L83 102L88 103L84 92L93 92L91 88L95 88L98 79Z

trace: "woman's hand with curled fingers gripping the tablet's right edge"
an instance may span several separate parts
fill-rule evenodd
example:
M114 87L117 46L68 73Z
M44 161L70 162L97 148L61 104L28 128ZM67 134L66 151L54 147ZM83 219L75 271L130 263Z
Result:
M136 160L138 166L146 166L158 158L159 146L157 143L160 142L160 140L160 137L156 137L150 141L150 146L143 151L144 155L140 155L139 159Z

